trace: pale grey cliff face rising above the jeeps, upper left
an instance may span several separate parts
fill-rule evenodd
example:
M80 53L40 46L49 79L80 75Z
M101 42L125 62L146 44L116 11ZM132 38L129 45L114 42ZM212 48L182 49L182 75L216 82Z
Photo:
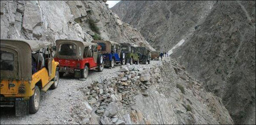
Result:
M89 19L98 27L99 35L91 30ZM153 50L136 29L120 21L101 0L1 1L1 38L91 42L96 36Z

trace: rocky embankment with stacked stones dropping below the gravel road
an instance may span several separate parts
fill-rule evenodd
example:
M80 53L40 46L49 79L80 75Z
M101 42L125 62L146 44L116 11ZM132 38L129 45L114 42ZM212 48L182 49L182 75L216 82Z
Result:
M122 66L117 76L80 88L94 115L85 121L117 125L233 124L220 98L205 92L201 82L168 60L150 67ZM75 112L74 116L84 121L83 113Z

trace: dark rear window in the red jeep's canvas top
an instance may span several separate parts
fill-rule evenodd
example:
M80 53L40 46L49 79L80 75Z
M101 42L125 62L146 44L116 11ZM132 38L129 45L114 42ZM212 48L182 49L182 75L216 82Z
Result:
M63 56L76 56L77 47L75 44L63 43L59 48L59 55Z

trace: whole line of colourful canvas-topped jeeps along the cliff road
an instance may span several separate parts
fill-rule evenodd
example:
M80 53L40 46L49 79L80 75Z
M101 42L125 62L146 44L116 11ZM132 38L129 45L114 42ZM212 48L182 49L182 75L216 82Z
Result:
M1 39L1 107L15 107L16 116L36 113L41 92L55 89L59 77L73 74L84 80L89 70L103 71L115 64L150 64L145 47L112 41L51 42ZM158 55L159 57L159 55Z

